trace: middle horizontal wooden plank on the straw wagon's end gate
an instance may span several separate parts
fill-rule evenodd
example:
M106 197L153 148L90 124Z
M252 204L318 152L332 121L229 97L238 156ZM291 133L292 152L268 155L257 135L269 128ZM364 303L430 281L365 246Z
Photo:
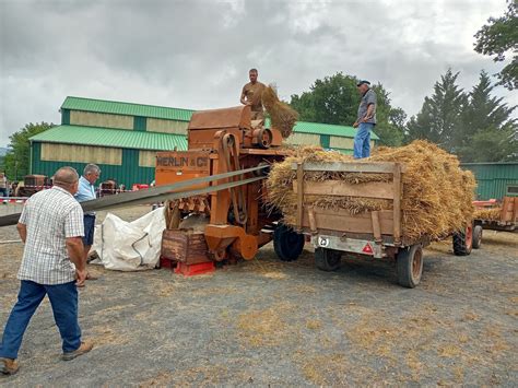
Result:
M293 183L294 192L298 192L298 184ZM340 196L393 199L391 183L369 181L365 184L349 184L343 180L306 181L304 185L306 196Z

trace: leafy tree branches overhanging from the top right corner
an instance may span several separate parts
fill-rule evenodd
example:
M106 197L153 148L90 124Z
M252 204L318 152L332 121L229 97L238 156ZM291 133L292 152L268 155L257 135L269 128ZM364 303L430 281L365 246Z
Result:
M496 75L499 79L498 85L514 90L518 87L518 2L509 0L508 3L503 16L490 17L487 24L475 34L474 49L476 52L494 56L495 62L504 61L507 52L513 51L511 62Z

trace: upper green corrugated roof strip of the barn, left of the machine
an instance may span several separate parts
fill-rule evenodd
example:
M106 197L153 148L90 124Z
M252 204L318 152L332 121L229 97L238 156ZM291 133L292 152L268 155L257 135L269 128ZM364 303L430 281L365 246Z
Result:
M117 101L93 99L68 96L61 109L96 111L103 114L154 117L167 120L189 121L191 109L168 108L165 106L122 103Z

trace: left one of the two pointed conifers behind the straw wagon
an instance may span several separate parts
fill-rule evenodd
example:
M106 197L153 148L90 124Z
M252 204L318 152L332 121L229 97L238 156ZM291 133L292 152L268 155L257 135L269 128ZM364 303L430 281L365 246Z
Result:
M434 85L434 94L425 97L423 107L407 125L407 140L429 140L443 149L454 152L456 130L461 125L461 113L468 96L457 85L459 73L448 69Z

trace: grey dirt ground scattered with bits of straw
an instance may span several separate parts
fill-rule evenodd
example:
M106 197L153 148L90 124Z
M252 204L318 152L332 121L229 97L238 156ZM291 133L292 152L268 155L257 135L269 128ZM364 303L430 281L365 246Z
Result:
M15 238L14 227L0 228L0 242ZM22 249L0 245L0 332ZM518 385L517 233L487 231L468 257L433 245L414 290L396 283L391 264L343 261L321 272L309 246L284 263L269 245L252 261L196 278L91 267L101 279L80 293L80 322L95 349L60 361L44 302L20 373L0 385Z

